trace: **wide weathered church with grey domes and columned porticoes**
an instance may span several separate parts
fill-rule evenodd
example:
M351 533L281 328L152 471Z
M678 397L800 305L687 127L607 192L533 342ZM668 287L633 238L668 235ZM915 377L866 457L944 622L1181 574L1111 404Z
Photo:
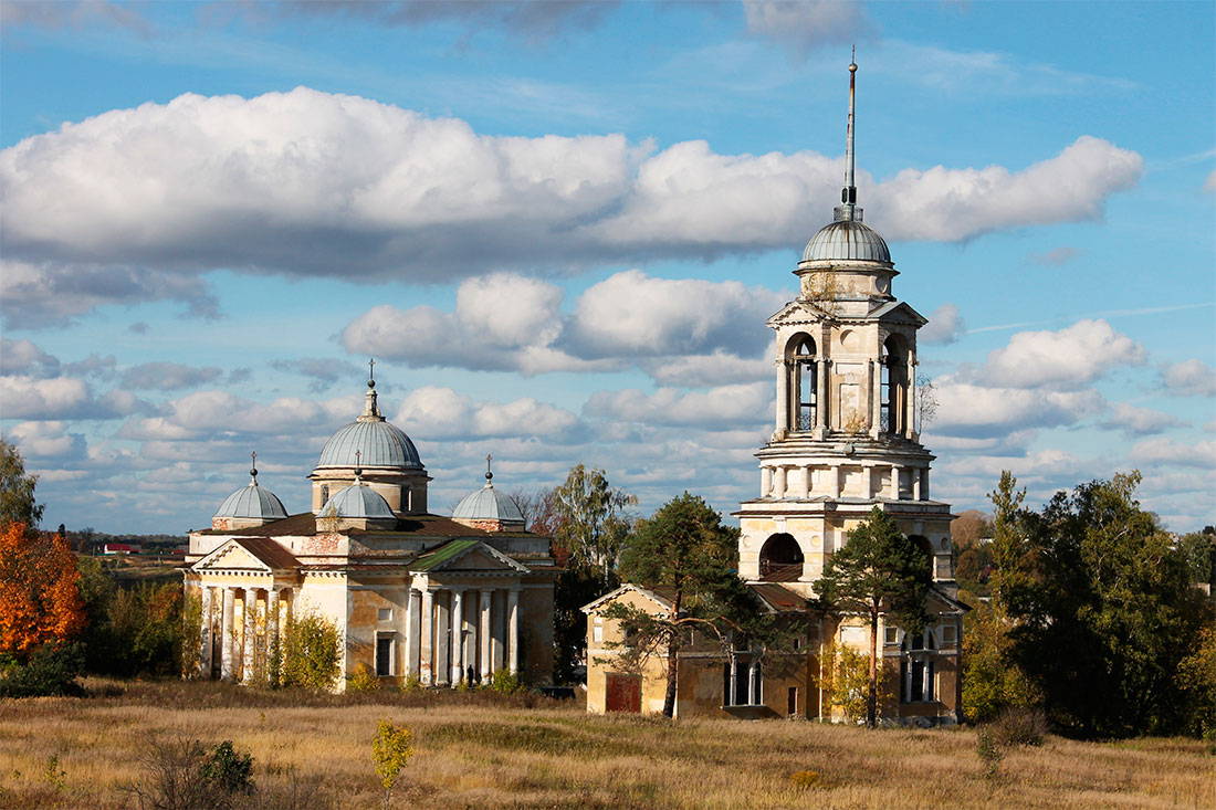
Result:
M317 615L340 640L337 691L360 669L395 685L486 684L503 670L550 682L550 539L525 530L489 468L452 516L430 513L430 477L381 414L375 379L364 412L330 438L309 476L310 511L288 516L257 467L250 476L210 528L190 534L199 676L275 680L293 626Z

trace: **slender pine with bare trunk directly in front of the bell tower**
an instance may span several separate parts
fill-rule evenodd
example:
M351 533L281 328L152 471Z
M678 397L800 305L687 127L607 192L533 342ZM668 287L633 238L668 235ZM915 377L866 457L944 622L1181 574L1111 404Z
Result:
M816 584L821 606L838 614L860 614L869 624L869 691L866 725L878 715L878 618L886 615L906 632L921 632L933 583L929 556L900 531L877 506L849 533Z

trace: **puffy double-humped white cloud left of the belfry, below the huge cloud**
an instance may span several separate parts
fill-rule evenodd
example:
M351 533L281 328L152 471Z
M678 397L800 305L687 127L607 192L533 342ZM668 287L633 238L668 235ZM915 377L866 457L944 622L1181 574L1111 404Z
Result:
M686 355L745 362L739 354L751 355L767 343L762 324L782 299L734 281L654 279L627 270L587 288L567 315L561 287L491 274L465 281L452 313L384 304L355 319L342 339L348 351L416 366L525 375L615 370L640 359L662 369Z

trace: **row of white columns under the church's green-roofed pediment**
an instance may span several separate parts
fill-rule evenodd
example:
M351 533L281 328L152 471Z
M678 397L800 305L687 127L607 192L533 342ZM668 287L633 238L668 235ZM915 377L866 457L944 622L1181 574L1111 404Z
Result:
M423 686L490 682L519 673L520 587L429 585L406 600L405 674ZM495 598L495 594L501 594ZM495 602L500 607L495 608ZM472 614L472 617L469 615Z

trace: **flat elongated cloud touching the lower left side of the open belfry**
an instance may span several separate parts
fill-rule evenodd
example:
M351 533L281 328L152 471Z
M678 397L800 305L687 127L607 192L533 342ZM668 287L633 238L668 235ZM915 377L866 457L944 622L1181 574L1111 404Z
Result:
M719 386L704 392L682 393L660 388L646 394L636 388L591 394L582 412L647 424L696 424L737 427L764 422L772 411L771 386L750 383Z

